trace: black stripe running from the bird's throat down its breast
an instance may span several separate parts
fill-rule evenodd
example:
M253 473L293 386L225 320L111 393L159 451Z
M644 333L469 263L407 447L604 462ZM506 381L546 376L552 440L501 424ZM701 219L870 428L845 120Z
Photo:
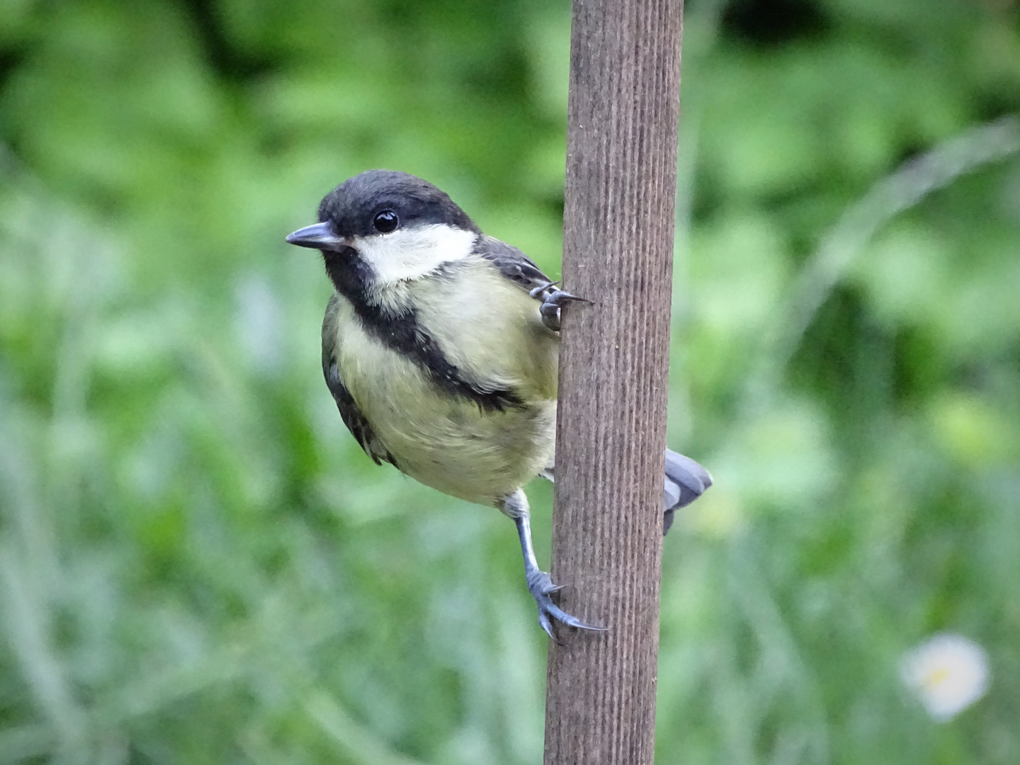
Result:
M465 377L443 353L439 343L424 330L413 310L400 313L384 310L367 300L367 286L373 278L368 264L354 250L324 252L326 271L337 290L354 306L366 332L387 348L411 358L443 391L476 403L483 411L504 411L523 406L515 391L486 389Z

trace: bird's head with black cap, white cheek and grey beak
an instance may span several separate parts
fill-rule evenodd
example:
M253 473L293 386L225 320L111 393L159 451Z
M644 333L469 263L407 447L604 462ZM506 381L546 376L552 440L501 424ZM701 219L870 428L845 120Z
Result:
M480 234L444 192L391 170L366 170L345 181L319 204L318 220L287 241L320 250L335 283L343 275L335 270L351 268L373 286L419 278L465 257Z

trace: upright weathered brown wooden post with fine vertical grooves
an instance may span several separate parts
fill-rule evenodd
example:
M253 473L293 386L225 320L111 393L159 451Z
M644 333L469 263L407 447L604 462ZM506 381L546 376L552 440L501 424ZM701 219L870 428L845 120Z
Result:
M574 0L546 765L655 744L682 0Z

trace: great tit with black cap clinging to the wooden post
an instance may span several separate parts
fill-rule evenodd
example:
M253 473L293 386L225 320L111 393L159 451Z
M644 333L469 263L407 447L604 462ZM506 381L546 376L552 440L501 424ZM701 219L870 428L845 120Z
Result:
M321 201L287 242L320 251L334 293L322 373L355 440L425 486L498 508L517 527L539 623L602 629L563 611L542 571L523 487L555 478L560 290L520 250L486 236L415 175L367 170ZM666 451L663 533L712 484Z

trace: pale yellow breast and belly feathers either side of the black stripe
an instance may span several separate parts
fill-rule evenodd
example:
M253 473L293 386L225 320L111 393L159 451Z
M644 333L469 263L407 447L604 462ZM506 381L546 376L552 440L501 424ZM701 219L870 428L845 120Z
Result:
M421 330L472 385L514 391L520 404L484 410L441 390L418 362L367 332L340 298L327 323L336 327L343 382L404 472L492 503L538 474L552 455L558 338L542 323L538 302L481 258L396 287L391 310L412 308Z

